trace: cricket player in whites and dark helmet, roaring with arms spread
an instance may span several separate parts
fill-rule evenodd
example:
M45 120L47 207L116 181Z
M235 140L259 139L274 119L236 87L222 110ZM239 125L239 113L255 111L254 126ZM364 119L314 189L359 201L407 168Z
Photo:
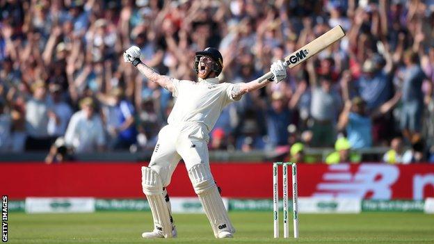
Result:
M124 51L124 61L132 63L149 81L172 92L175 105L168 117L168 125L159 132L159 138L149 167L142 168L142 187L152 211L154 230L143 238L171 238L177 230L171 215L166 187L177 163L184 159L195 193L207 214L216 238L230 238L235 232L209 168L209 131L213 129L223 108L243 94L276 83L286 78L282 61L271 65L274 77L259 83L219 83L223 57L217 49L208 47L195 53L194 68L198 81L185 81L158 74L140 60L140 49Z

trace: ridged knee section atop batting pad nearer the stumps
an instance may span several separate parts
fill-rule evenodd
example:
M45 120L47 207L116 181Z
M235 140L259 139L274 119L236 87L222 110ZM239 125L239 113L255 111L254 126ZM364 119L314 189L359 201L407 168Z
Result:
M216 186L209 165L203 163L193 165L188 170L188 177L190 177L191 184L198 195Z

